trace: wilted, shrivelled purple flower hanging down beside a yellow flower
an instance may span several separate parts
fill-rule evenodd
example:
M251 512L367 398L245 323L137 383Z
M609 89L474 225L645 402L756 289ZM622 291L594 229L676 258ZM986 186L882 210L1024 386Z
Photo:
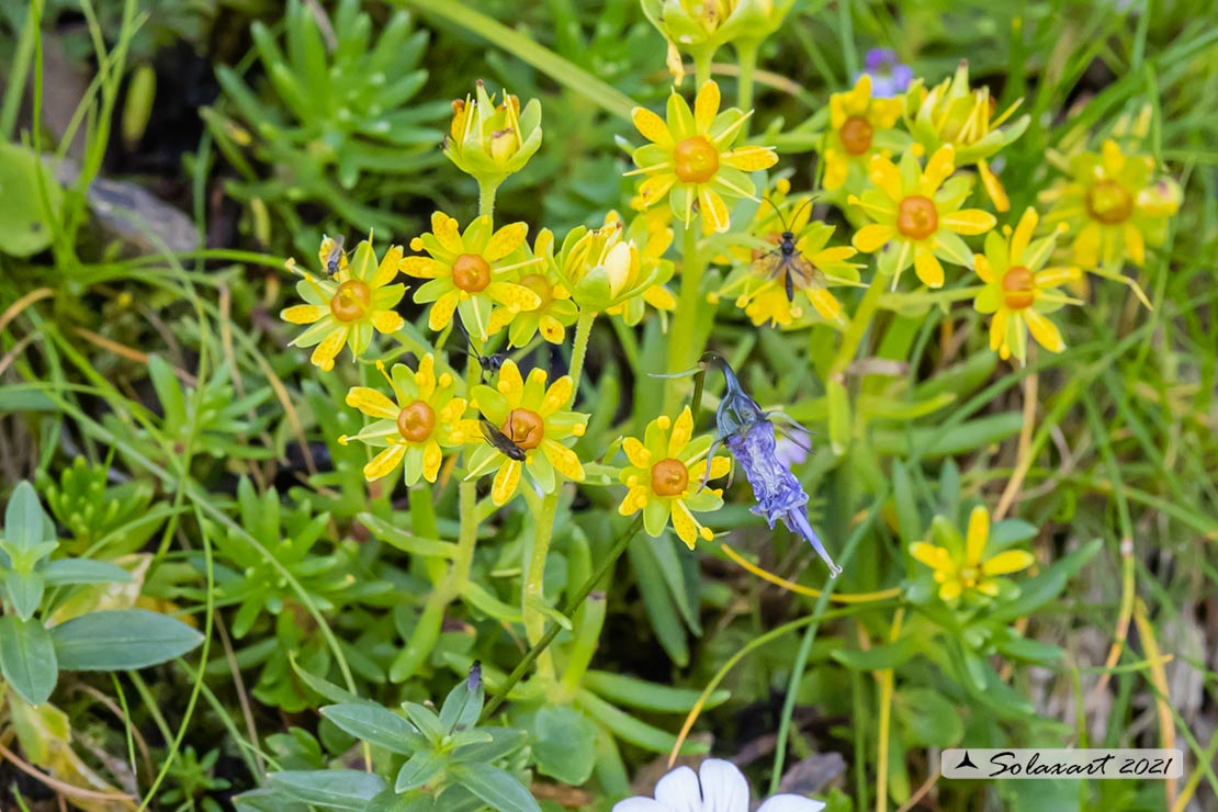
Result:
M703 357L704 365L711 363L719 363L727 383L727 391L715 413L715 424L719 427L716 443L722 442L727 446L727 450L741 464L745 478L753 486L753 495L758 504L753 506L752 513L762 516L770 527L781 520L787 530L806 539L828 565L829 575L836 578L842 567L829 558L825 544L808 521L805 510L808 494L790 469L778 459L773 422L756 401L744 392L727 362L713 353ZM713 446L708 459L714 455ZM710 471L709 464L706 470Z

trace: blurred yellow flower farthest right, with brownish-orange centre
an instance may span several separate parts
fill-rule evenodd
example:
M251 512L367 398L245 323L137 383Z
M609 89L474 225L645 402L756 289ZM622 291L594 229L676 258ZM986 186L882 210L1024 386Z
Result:
M1074 156L1069 183L1041 192L1041 202L1052 203L1045 223L1065 223L1074 235L1075 263L1090 269L1129 259L1141 267L1146 246L1163 245L1180 187L1170 178L1155 180L1156 168L1155 158L1127 156L1110 140L1100 155Z

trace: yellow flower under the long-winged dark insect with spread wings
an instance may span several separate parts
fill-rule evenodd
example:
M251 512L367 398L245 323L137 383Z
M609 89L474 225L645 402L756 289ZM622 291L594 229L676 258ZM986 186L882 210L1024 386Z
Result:
M787 326L804 317L800 298L806 298L820 318L840 323L842 306L826 285L859 282L859 267L847 262L856 252L850 246L829 246L834 228L809 222L812 213L809 197L795 197L789 205L782 202L780 196L787 189L789 184L781 181L772 205L762 205L753 218L752 231L764 240L765 247L733 250L737 268L711 295L711 301L734 296L736 307L744 308L753 324L770 321ZM788 228L795 236L795 256L783 262L777 245ZM792 292L803 297L787 297L788 274Z

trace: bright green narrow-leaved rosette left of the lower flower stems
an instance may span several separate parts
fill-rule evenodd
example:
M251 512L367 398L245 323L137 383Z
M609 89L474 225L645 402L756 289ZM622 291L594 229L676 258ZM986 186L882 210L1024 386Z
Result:
M253 688L261 701L300 711L309 706L311 698L291 677L289 653L304 667L322 673L329 670L331 660L330 649L315 632L313 612L331 615L384 594L391 586L357 576L353 542L334 544L329 551L318 549L330 515L314 515L308 502L285 509L274 488L258 495L252 482L242 477L238 486L238 517L240 527L222 531L212 526L217 597L222 604L235 607L231 629L238 639L258 628L259 618L273 618L267 634L253 635L257 642L238 651L238 663L262 666ZM201 559L197 564L203 566ZM361 656L357 646L343 646L343 655L357 673L382 681L381 670Z

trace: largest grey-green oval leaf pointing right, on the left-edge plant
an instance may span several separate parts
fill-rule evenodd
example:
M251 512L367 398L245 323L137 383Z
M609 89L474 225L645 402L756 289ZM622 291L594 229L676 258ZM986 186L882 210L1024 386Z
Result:
M203 635L146 609L118 609L73 617L51 629L65 671L125 671L179 657Z

